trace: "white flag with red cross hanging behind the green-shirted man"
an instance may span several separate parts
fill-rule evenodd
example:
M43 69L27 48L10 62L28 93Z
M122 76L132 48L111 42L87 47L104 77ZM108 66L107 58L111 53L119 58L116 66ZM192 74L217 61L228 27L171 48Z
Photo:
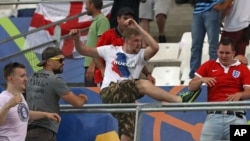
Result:
M111 1L112 2L112 1ZM109 4L110 1L104 1L103 4ZM107 17L110 15L112 6L108 6L102 9L102 13ZM42 27L44 25L56 22L58 20L65 19L67 17L80 14L85 12L84 2L62 2L62 3L40 3L37 5L35 13L32 17L29 30ZM90 26L92 22L92 17L88 15L83 15L81 17L75 18L60 24L61 36L69 33L72 28L84 29ZM31 48L42 43L46 43L54 39L55 26L41 30L26 37L27 44L25 48ZM87 31L82 33L81 40L86 41ZM50 45L48 45L50 46ZM46 47L46 46L45 46ZM67 57L82 57L74 50L74 44L72 39L61 40L60 47ZM41 53L44 48L37 50L37 53Z

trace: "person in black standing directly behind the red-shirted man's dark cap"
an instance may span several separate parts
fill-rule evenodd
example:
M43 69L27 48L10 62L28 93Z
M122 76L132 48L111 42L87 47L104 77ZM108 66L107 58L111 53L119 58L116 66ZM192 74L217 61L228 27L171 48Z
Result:
M117 17L118 12L122 7L129 7L134 11L134 19L137 23L139 23L139 4L140 1L145 2L146 0L114 0L112 9L111 9L111 16L109 19L110 27L115 28L117 27Z

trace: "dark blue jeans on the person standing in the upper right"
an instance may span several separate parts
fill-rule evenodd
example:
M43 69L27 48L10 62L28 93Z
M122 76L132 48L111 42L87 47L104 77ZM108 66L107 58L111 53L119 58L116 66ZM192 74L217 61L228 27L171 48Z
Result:
M206 33L210 59L216 59L220 34L220 13L216 10L210 9L203 13L193 14L190 78L194 77L195 71L201 65L202 47Z

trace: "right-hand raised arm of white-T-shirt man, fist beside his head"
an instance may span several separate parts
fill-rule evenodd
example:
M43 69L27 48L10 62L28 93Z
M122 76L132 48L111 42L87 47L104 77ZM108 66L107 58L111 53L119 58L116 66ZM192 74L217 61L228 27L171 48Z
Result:
M133 19L127 19L125 21L125 25L128 28L133 28L137 30L141 34L142 39L145 40L146 43L148 44L148 47L146 47L145 49L144 59L149 60L151 57L153 57L159 50L159 45L155 41L155 39L148 32L146 32L140 25L138 25L136 21Z

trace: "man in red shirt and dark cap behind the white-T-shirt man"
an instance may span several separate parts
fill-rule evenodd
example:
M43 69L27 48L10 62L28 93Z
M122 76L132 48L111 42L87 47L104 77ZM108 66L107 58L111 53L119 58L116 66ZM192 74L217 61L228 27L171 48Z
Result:
M130 9L129 7L121 8L118 11L118 16L116 19L118 25L115 28L111 28L102 34L102 36L99 38L97 42L97 47L104 45L111 45L111 44L114 46L122 46L123 45L122 33L125 30L124 21L129 18L133 19L134 17L135 14L132 9ZM98 64L98 67L100 68L95 70L95 83L101 83L103 81L105 62L102 58L100 58L100 60L96 58L95 62ZM148 71L146 66L144 66L142 72L148 80L150 80L153 84L155 83L155 79L152 77L151 73Z

